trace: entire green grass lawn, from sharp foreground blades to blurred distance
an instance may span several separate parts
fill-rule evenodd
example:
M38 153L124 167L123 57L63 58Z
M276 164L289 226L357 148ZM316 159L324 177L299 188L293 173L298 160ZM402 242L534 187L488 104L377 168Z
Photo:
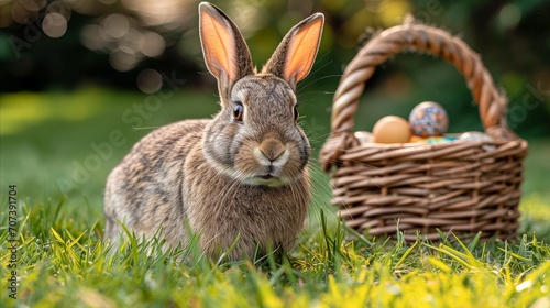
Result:
M300 99L302 125L318 150L331 97ZM106 246L101 198L109 170L153 128L209 117L216 100L207 90L163 99L94 88L1 95L0 306L550 307L549 139L529 140L514 243L407 244L353 234L338 223L328 177L314 160L308 227L280 265L209 261L194 245L169 253L158 242ZM14 262L10 204L16 204Z

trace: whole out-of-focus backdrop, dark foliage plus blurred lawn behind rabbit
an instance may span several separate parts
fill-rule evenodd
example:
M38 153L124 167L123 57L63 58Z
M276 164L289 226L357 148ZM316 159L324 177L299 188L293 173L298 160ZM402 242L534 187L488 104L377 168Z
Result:
M341 73L373 33L411 13L463 37L508 95L509 127L530 142L524 207L550 205L549 1L212 2L242 30L258 66L295 23L326 14L316 65L298 86L300 121L316 151L329 133ZM213 114L216 80L202 61L198 3L0 0L0 187L16 184L31 204L68 196L82 216L99 219L105 179L135 141L169 122ZM483 130L454 67L410 53L378 67L356 129L370 131L387 114L408 117L425 100L447 109L450 132ZM317 194L328 199L316 168ZM0 188L2 200L7 191ZM540 220L550 219L548 212L531 211Z

